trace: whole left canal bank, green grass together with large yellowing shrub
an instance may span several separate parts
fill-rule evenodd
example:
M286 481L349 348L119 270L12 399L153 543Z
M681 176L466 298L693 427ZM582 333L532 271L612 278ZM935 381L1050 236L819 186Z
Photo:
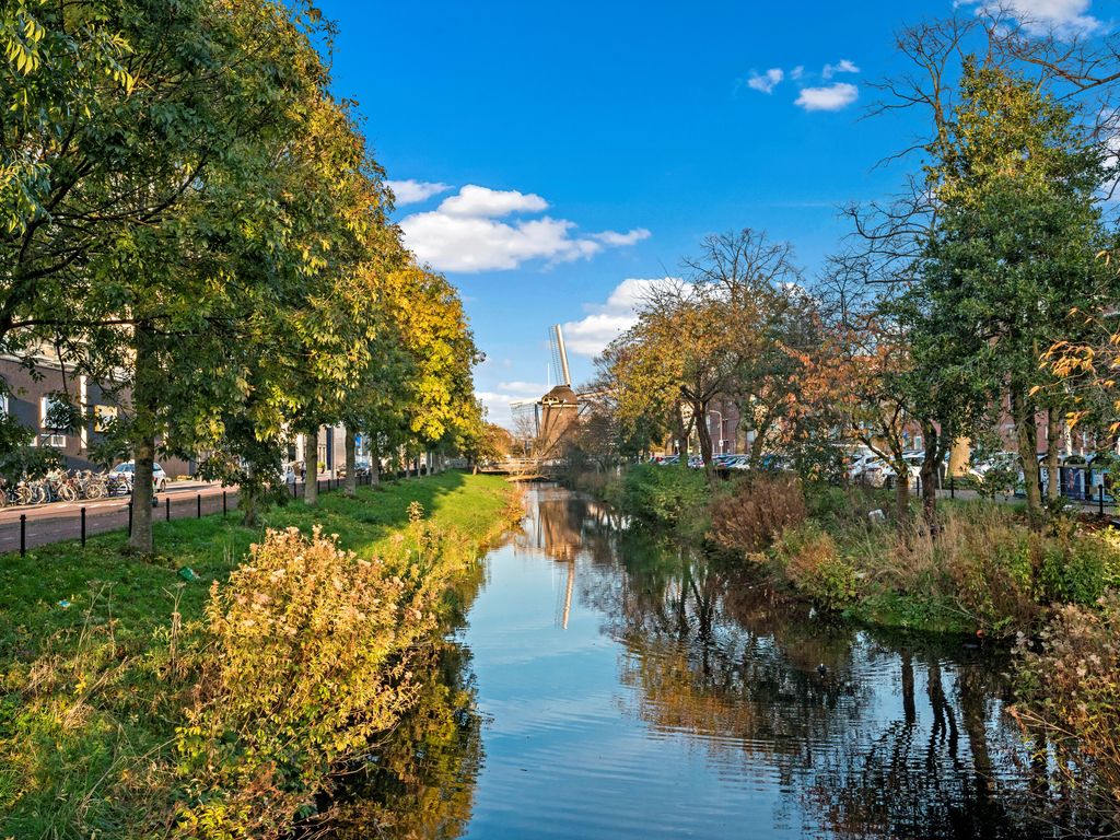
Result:
M0 837L268 838L422 698L510 485L445 474L251 530L0 558ZM199 580L179 575L190 568ZM186 572L184 577L193 577Z

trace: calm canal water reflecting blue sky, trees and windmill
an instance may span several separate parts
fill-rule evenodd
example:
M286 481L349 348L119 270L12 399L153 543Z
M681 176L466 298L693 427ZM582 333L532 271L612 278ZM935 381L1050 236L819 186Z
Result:
M1006 655L783 604L561 488L528 511L339 837L1089 833L1006 712Z

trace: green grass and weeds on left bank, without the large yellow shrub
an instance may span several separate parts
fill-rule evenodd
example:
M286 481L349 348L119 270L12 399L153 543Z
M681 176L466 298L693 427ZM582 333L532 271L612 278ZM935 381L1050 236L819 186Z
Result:
M160 676L176 596L185 628L197 628L212 582L265 528L320 525L373 557L407 530L417 501L436 526L480 544L508 524L511 498L500 477L448 473L363 487L353 500L325 494L314 508L293 501L253 529L233 511L160 522L151 561L122 553L123 533L0 556L0 838L131 840L141 816L164 812L161 781L136 774L153 766L146 755L166 762L183 724L186 689ZM184 566L200 580L183 584ZM198 640L186 629L181 643Z

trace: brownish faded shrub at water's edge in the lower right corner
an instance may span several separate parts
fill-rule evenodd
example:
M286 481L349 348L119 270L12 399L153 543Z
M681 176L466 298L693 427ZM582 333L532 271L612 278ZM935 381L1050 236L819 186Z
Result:
M1015 711L1054 741L1065 759L1056 766L1075 767L1090 783L1090 806L1120 828L1120 596L1109 592L1099 607L1058 610L1040 652L1020 637Z

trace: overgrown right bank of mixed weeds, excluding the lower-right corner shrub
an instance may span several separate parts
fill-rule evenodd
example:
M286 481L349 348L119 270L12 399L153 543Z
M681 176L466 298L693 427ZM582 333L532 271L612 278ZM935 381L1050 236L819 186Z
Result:
M1034 534L1017 506L942 501L939 530L894 519L893 491L802 485L787 475L710 485L641 466L607 485L625 513L754 567L778 590L850 618L926 633L1012 637L1054 605L1120 586L1120 533L1057 517Z

